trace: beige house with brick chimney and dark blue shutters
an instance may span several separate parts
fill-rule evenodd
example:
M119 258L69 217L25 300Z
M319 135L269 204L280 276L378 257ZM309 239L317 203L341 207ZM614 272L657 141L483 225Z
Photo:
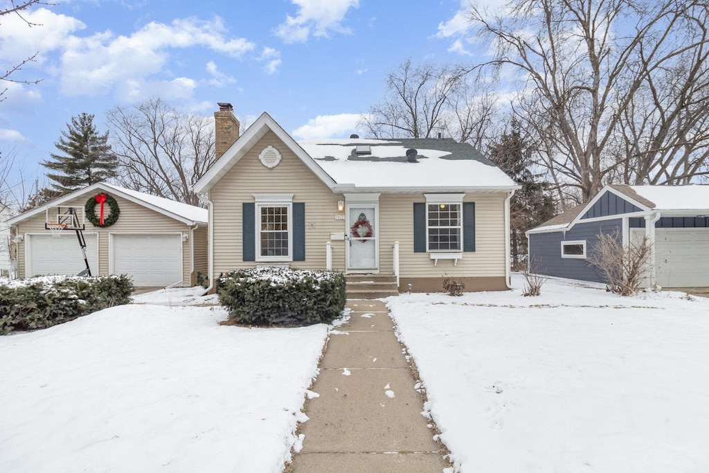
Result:
M518 186L467 143L306 140L268 113L238 135L215 113L216 163L194 191L208 203L211 280L257 266L396 275L398 288L469 291L509 281L509 199Z

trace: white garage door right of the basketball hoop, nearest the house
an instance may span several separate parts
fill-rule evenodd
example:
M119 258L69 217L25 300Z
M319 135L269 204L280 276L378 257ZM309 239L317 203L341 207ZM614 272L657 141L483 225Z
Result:
M113 274L128 274L135 286L169 286L182 281L182 237L111 235Z

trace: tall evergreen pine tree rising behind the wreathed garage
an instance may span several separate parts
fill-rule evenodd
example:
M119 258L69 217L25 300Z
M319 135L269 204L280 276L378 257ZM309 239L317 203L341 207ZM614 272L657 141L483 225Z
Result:
M102 182L111 177L118 160L108 145L108 132L99 134L94 126L94 116L82 113L72 117L67 123L67 130L62 131L62 138L55 143L63 154L52 154L52 160L42 162L47 169L52 187L62 194L82 189Z

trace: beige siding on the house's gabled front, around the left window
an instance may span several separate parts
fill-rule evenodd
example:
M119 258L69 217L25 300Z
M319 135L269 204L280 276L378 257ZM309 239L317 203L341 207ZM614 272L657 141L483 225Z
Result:
M281 162L267 169L258 155L268 145L281 153ZM305 203L306 261L291 262L302 269L324 269L325 243L331 233L345 231L345 221L335 220L337 201L341 194L333 194L318 177L274 133L269 131L239 162L211 189L214 204L214 275L233 269L254 267L255 262L243 261L242 203L254 202L253 194L294 194L294 202ZM337 242L342 243L342 242ZM333 242L333 269L345 269L342 245Z

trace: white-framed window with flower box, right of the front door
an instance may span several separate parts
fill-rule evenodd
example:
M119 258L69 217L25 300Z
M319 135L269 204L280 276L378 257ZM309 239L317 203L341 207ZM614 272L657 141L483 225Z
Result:
M426 241L429 252L463 250L463 194L426 194Z

